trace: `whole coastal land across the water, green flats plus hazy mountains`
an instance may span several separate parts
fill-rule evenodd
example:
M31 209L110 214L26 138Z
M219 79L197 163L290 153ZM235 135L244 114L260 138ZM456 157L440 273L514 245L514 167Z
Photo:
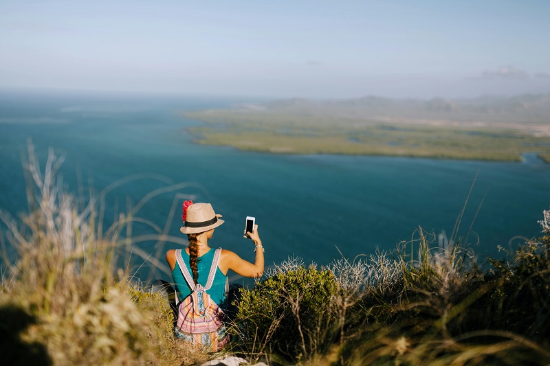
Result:
M188 111L198 144L279 154L550 163L550 95L474 100L279 100Z

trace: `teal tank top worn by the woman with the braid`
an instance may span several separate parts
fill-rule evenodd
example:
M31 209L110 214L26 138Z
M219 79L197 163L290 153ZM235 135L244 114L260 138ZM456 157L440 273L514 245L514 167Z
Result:
M212 266L212 261L214 260L215 251L215 249L210 248L206 254L201 255L201 257L197 260L197 270L199 271L199 279L197 282L199 282L202 286L206 286L208 273L210 273L210 267ZM184 249L181 249L181 257L184 258L185 266L192 275L191 267L189 266L189 255ZM216 275L214 275L212 287L206 291L212 300L214 300L222 309L226 308L225 297L227 294L225 293L225 281L227 280L227 277L227 275L221 273L219 267L216 268ZM191 288L187 284L183 273L181 273L177 262L172 271L172 278L174 279L174 284L176 287L177 299L181 301L188 297L188 295L191 294Z

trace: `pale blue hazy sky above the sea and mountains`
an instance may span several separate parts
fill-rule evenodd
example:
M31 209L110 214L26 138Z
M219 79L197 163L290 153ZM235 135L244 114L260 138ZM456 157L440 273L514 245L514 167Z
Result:
M550 92L550 1L0 0L0 88Z

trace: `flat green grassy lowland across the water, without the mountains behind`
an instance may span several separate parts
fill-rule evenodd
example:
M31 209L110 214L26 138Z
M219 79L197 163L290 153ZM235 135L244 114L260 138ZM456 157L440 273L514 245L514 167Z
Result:
M189 131L199 144L285 154L343 154L520 161L535 152L550 162L550 137L505 126L411 124L241 110L194 111L207 122Z

